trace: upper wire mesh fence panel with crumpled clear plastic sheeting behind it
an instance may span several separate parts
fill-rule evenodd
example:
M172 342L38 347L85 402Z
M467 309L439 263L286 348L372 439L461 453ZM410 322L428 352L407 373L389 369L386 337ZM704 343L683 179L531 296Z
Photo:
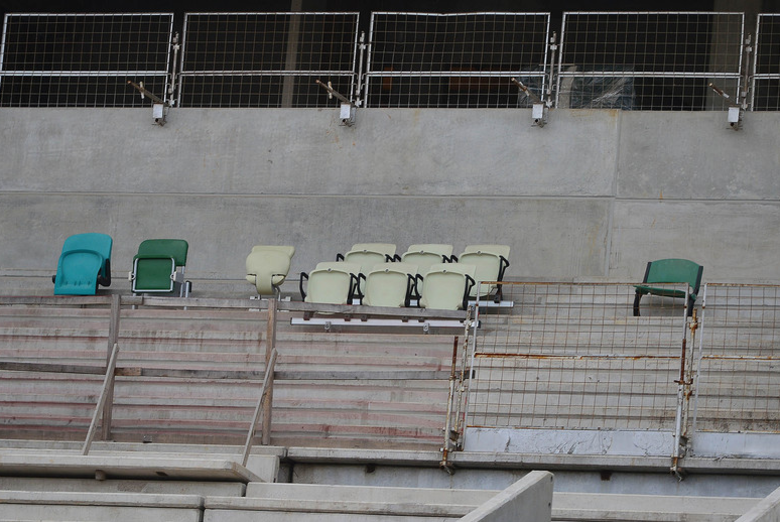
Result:
M556 107L725 110L743 33L742 13L564 13Z

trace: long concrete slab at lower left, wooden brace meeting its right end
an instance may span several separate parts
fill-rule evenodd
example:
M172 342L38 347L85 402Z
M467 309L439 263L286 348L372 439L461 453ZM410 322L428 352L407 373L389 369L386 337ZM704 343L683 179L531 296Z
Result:
M262 477L225 459L127 455L0 453L0 474L39 477L171 478L260 482Z

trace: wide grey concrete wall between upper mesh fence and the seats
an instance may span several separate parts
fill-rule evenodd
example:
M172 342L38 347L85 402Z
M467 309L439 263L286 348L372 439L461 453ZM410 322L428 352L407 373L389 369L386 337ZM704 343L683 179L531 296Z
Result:
M518 279L635 280L685 257L705 280L780 281L780 114L749 113L739 132L721 112L530 122L178 109L159 127L146 109L0 109L0 290L22 277L49 291L63 240L87 231L114 238L115 276L143 239L181 237L196 280L243 279L254 244L296 246L299 272L383 241L506 243Z

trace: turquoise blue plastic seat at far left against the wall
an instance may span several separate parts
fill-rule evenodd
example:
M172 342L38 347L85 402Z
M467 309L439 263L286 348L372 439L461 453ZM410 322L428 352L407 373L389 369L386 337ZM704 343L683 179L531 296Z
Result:
M110 276L113 242L107 234L86 233L68 237L57 261L54 294L95 295L98 277Z

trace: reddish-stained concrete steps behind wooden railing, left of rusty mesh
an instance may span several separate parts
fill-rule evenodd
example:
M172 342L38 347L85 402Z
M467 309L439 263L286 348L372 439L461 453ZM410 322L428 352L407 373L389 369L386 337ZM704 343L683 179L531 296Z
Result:
M135 374L116 378L112 438L242 444L265 371L266 320L250 309L123 308L118 367ZM94 372L2 371L0 437L86 436L109 322L106 307L0 307L0 362ZM301 329L284 313L277 324L274 444L441 445L453 336Z

